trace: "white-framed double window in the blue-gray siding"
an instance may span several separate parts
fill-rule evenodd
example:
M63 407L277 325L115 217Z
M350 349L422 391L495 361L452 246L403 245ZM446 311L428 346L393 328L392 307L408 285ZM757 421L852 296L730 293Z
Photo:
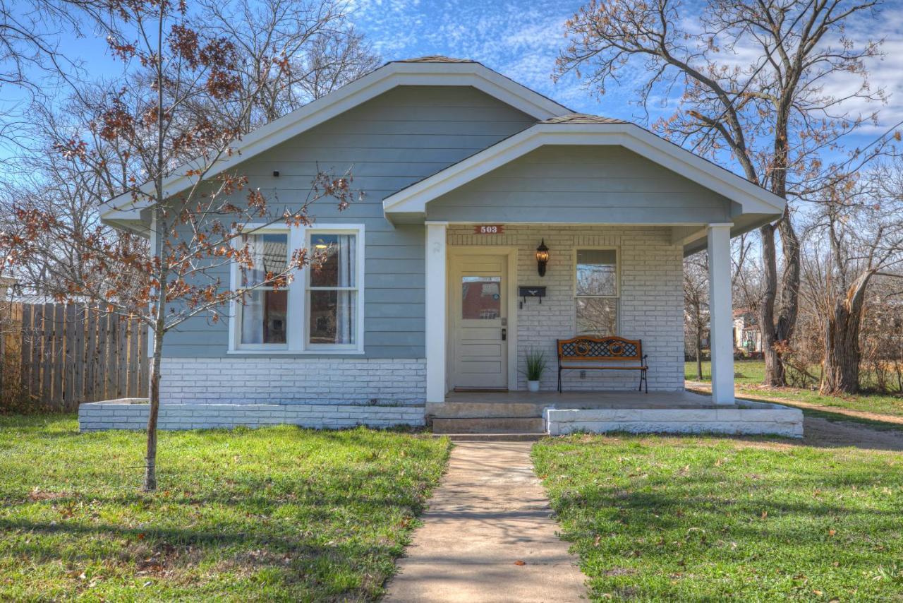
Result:
M233 264L232 287L284 271L302 247L312 263L288 287L255 287L233 302L229 353L363 353L364 226L250 224L245 231L236 245L248 244L254 269Z

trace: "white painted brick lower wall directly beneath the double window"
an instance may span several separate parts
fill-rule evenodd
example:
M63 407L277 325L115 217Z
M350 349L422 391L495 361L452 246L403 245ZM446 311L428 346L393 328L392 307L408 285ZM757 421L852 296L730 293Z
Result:
M164 358L161 405L220 404L419 405L426 400L423 359Z

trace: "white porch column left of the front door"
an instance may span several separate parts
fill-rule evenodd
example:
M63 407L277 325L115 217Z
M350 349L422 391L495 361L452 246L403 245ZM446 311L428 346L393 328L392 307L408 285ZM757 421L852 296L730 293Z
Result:
M426 223L426 401L445 401L445 230Z

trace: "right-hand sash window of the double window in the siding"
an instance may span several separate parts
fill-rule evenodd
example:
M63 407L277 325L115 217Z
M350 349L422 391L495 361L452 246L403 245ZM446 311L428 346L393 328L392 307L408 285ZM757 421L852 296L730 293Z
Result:
M306 230L312 267L304 292L308 349L357 349L363 324L361 231L340 227Z

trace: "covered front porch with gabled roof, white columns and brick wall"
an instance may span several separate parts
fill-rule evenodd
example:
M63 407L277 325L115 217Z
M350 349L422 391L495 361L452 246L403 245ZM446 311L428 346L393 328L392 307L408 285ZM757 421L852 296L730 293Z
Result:
M656 431L680 419L677 430L734 432L725 421L752 425L761 417L749 413L779 410L734 400L731 236L784 209L740 176L642 128L566 118L424 178L383 208L395 224L425 226L433 429L497 419L505 430ZM683 259L703 249L712 395L695 397L684 392ZM588 334L638 342L648 394L635 391L637 371L611 367L570 370L554 394L557 340ZM536 398L524 397L531 353L547 363Z

